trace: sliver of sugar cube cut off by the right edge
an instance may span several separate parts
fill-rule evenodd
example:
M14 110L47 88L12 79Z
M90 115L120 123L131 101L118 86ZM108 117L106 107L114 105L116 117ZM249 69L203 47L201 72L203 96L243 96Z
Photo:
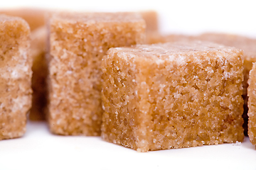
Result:
M256 145L256 64L254 63L250 71L248 80L248 136L252 145Z

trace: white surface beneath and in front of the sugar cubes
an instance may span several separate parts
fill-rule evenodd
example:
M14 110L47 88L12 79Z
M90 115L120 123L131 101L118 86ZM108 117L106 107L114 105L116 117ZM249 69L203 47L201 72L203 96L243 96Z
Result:
M0 142L0 169L256 169L248 137L223 144L139 153L100 137L52 135L30 122L26 135Z

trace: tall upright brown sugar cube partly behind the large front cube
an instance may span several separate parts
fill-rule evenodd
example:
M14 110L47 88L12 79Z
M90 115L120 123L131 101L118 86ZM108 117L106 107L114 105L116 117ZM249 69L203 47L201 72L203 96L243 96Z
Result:
M100 135L100 64L110 47L144 43L139 13L62 13L50 19L48 122L60 135Z

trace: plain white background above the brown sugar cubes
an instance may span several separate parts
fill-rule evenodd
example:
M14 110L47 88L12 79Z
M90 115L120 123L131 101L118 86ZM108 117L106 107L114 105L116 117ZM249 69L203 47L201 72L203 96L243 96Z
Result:
M197 34L204 31L239 33L256 38L256 1L254 0L1 0L0 8L36 6L79 11L159 12L162 33Z

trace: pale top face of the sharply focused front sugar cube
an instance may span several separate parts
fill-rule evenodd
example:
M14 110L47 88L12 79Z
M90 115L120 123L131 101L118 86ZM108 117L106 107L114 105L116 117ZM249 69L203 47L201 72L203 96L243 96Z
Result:
M120 56L134 57L135 60L144 58L152 61L170 61L177 64L186 64L189 60L201 62L206 58L236 57L242 55L242 50L235 47L225 47L212 42L196 40L181 40L156 45L136 45L134 47L117 47L109 50L108 54L118 52ZM208 55L208 54L212 55ZM128 59L127 59L128 60Z

